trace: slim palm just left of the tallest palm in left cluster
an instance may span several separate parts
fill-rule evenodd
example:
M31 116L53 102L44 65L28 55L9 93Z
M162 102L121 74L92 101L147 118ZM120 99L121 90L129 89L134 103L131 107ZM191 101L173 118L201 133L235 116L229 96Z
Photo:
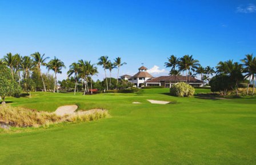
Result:
M29 77L29 71L34 69L33 60L29 56L22 57L21 68L25 73L25 91L27 91L27 78Z

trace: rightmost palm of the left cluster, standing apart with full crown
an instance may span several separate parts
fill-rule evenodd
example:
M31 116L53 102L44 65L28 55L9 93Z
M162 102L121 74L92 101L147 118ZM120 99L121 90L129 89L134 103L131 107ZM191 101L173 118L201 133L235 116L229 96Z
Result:
M55 83L54 83L54 90L53 90L53 92L55 92L55 88L58 85L57 73L62 73L61 69L66 68L66 66L60 59L54 57L54 59L51 59L51 61L49 63L47 63L46 67L48 68L48 70L53 70L55 73ZM57 87L57 92L59 92L58 87Z

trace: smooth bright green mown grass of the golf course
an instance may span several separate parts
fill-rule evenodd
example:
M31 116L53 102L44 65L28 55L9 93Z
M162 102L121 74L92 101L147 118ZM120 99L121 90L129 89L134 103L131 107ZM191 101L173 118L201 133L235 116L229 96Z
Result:
M209 90L200 89L197 92ZM32 93L12 106L55 111L102 107L111 118L0 134L0 164L256 164L256 98L176 98L139 94ZM169 100L151 104L146 99ZM141 102L142 104L132 104Z

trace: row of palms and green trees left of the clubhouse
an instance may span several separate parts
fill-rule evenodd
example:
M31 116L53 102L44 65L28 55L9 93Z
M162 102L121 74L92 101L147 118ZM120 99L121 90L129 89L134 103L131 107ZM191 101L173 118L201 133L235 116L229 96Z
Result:
M66 68L65 64L54 57L50 59L45 54L41 55L39 52L35 52L30 56L21 56L19 54L7 53L2 59L0 59L0 65L6 65L11 71L11 79L18 82L19 86L22 87L23 91L29 90L42 90L42 91L57 91L59 92L57 74L62 73L62 69ZM105 83L106 89L113 88L113 80L111 80L111 71L118 69L117 81L115 81L115 87L118 86L119 69L121 66L126 65L126 62L122 62L120 57L114 59L111 62L109 57L102 56L97 64L91 64L90 61L84 61L83 59L78 62L74 62L69 66L67 71L68 79L72 78L74 83L74 94L77 92L78 83L81 82L83 94L89 93L89 82L90 88L93 88L94 75L98 74L98 69L95 65L102 66L105 71ZM42 73L42 67L54 71L54 75L48 73ZM106 70L109 70L109 80L107 79ZM120 83L121 85L123 84ZM125 84L124 84L125 85ZM131 86L131 84L129 84ZM91 93L93 90L91 90Z

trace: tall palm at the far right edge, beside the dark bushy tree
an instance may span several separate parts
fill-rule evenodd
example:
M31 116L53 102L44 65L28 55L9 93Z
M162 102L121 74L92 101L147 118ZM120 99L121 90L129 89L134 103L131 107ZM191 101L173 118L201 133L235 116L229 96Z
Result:
M253 57L253 54L247 54L246 57L241 60L243 66L245 66L245 78L249 78L249 82L247 84L246 94L249 93L250 80L253 80L253 93L254 94L254 77L256 74L256 57Z

